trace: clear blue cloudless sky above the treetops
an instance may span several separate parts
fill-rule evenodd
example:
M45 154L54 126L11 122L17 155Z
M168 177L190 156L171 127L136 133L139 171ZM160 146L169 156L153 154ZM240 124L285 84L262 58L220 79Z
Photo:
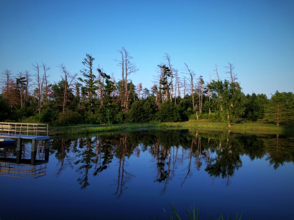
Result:
M294 1L29 1L0 0L0 71L29 70L42 61L59 81L64 63L79 73L86 53L94 68L120 79L122 46L152 86L164 53L205 81L218 65L235 64L245 94L294 92ZM215 76L212 76L215 77Z

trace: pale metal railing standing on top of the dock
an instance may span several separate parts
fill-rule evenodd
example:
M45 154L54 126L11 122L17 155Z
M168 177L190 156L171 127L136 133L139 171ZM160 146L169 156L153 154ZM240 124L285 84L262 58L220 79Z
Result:
M48 124L0 122L0 134L48 136Z

